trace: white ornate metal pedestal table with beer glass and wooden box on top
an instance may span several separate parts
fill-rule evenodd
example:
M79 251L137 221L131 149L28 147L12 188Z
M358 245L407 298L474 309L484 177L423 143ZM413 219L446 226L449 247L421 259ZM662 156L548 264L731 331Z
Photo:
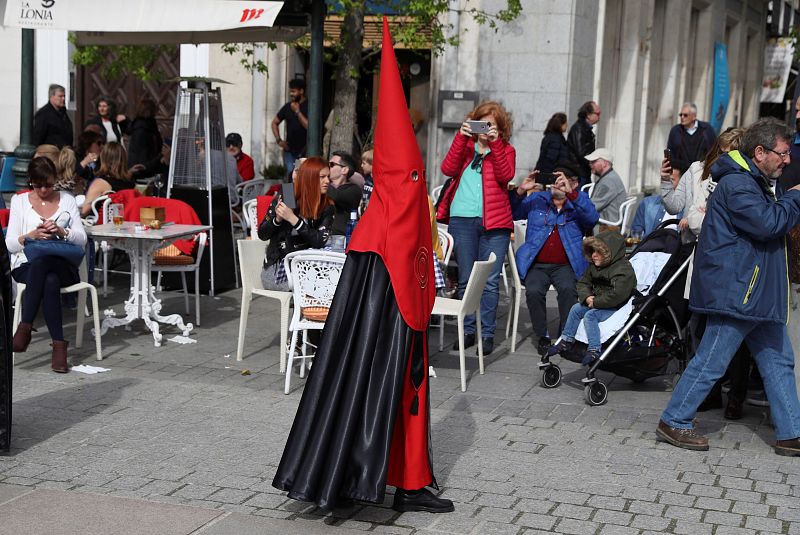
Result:
M194 328L191 323L184 324L180 314L162 316L161 300L156 299L153 286L150 284L150 268L153 254L175 240L186 238L209 230L209 225L168 225L160 229L137 231L139 223L124 222L116 227L113 223L95 225L86 228L86 233L93 238L103 239L114 247L124 250L131 259L131 293L125 301L125 317L117 318L113 312L106 312L106 318L100 326L100 333L105 334L109 327L128 325L133 320L142 319L153 333L156 347L161 346L162 335L159 323L177 325L188 336Z

